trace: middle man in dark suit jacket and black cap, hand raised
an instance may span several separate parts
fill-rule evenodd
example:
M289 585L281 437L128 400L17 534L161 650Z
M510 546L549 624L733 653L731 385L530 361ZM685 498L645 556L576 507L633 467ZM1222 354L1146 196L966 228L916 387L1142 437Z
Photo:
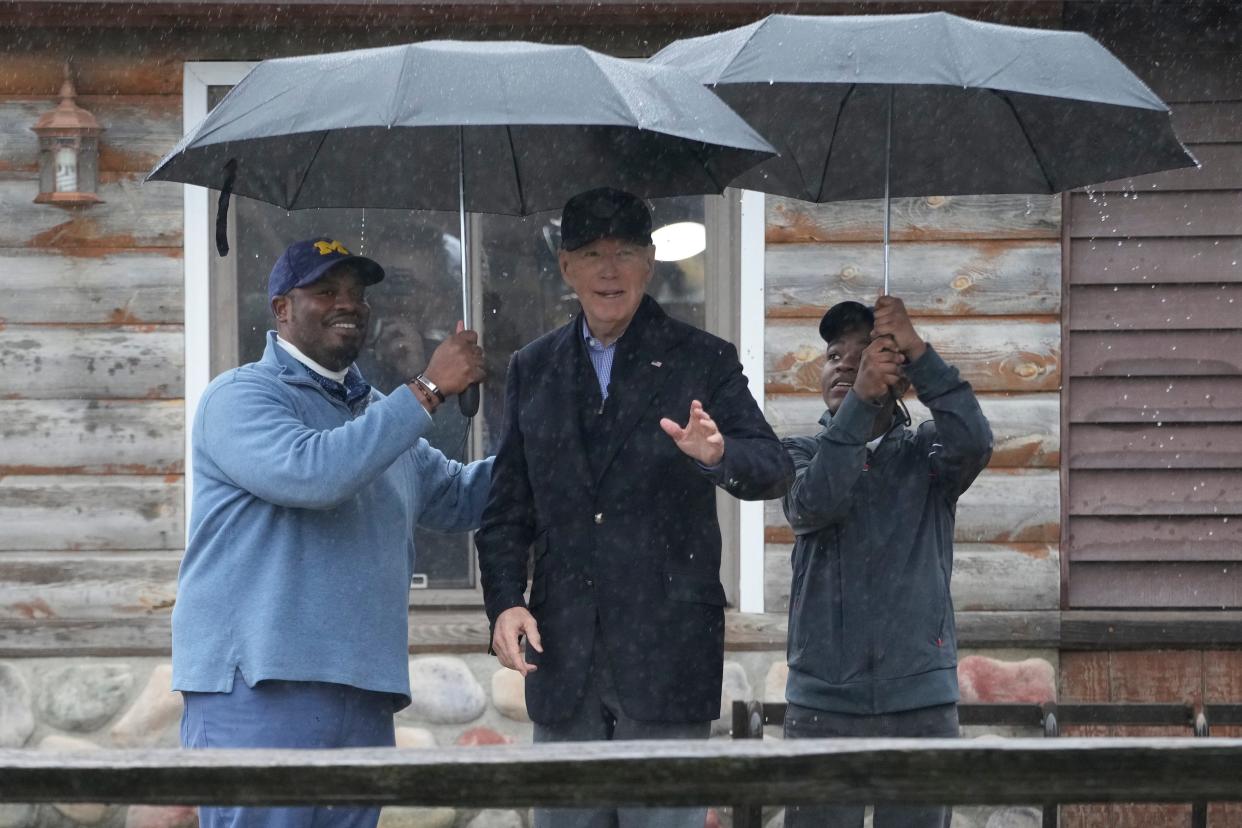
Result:
M705 739L724 659L715 487L776 498L794 469L733 345L645 294L642 201L611 189L570 199L559 259L582 313L509 364L476 535L492 647L527 679L535 741ZM617 813L621 828L704 817L559 809L537 811L535 826L596 828Z

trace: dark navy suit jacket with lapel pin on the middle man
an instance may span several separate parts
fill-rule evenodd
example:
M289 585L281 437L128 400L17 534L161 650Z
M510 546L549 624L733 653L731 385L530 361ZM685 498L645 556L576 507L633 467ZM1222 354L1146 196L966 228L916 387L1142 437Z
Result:
M671 319L646 297L617 341L604 415L582 318L509 364L504 434L476 535L487 613L530 611L544 652L527 648L527 708L539 722L573 714L604 647L625 713L707 721L720 710L724 588L715 487L780 497L794 469L755 405L733 345ZM725 438L710 472L660 418L684 425L699 400ZM601 417L601 420L592 420ZM596 634L599 632L599 634Z

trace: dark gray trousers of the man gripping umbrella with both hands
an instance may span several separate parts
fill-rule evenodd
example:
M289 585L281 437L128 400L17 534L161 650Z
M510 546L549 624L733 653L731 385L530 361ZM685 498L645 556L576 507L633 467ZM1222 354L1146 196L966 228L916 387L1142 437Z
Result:
M956 739L958 705L852 716L790 704L785 739ZM785 828L862 828L864 806L790 806ZM876 806L874 828L949 828L951 807Z

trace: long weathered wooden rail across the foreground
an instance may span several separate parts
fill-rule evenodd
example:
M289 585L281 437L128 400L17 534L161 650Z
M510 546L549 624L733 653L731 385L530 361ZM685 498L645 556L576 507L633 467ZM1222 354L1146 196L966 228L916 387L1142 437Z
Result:
M737 807L1242 799L1238 739L0 751L0 802Z

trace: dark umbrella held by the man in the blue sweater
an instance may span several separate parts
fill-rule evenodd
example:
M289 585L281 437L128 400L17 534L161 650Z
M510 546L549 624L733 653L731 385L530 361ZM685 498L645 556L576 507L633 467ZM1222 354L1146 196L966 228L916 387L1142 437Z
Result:
M580 46L430 41L263 61L147 178L221 190L221 254L230 192L287 210L456 210L465 250L467 211L528 215L597 186L718 194L771 155L678 70Z

